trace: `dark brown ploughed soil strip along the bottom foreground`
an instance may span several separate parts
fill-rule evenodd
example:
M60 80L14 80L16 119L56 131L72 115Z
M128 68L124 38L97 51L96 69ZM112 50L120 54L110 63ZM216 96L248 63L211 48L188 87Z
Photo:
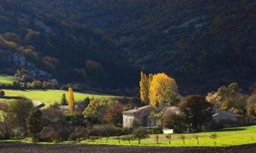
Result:
M227 148L209 147L144 147L107 145L40 145L0 142L0 153L256 153L256 144Z

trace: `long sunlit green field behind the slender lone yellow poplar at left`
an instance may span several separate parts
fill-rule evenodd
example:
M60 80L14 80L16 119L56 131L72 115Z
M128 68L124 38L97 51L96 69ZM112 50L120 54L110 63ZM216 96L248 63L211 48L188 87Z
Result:
M28 99L38 100L44 103L46 106L52 103L59 103L63 94L66 94L66 90L4 90L6 97L20 97L25 96ZM92 95L80 92L74 92L74 100L81 101L86 97L89 98L109 98L110 95ZM6 101L6 99L0 99L0 101ZM10 101L10 100L7 100Z

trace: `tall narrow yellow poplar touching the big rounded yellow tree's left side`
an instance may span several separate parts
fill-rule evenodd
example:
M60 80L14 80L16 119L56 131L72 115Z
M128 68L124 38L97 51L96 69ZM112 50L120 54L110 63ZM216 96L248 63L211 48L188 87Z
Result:
M150 103L149 93L150 93L150 82L149 78L145 73L141 71L141 81L139 82L139 86L141 87L141 101L148 105Z

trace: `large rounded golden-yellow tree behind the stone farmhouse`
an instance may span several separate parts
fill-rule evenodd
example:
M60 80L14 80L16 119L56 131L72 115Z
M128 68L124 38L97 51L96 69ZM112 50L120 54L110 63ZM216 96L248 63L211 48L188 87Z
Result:
M168 93L167 90L169 90ZM175 80L165 73L153 75L152 81L150 81L150 105L155 106L157 102L159 104L167 103L170 92L177 92Z

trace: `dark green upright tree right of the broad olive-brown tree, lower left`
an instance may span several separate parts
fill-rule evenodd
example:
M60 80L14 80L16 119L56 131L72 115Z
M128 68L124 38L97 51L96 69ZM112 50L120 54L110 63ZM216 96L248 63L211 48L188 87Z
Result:
M27 129L32 135L33 142L38 142L38 135L42 128L42 112L40 109L35 109L29 113L29 118L27 119Z

